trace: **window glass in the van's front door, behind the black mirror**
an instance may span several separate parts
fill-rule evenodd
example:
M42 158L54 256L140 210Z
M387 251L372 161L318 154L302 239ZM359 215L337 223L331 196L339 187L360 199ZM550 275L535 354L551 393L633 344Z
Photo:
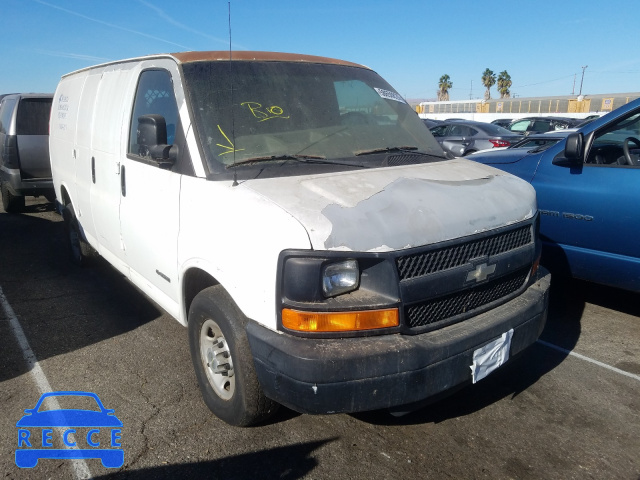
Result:
M147 70L140 74L131 115L128 153L140 155L137 143L138 118L152 113L164 117L167 123L167 144L172 145L180 119L171 75L166 70Z

